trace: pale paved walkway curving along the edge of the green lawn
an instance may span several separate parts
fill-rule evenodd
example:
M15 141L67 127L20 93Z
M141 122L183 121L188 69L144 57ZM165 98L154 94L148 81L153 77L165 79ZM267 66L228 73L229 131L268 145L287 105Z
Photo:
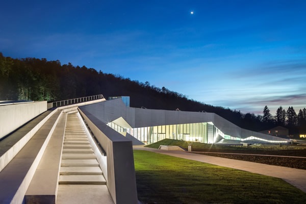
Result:
M224 166L252 173L277 177L279 179L283 179L284 181L295 186L296 188L301 189L303 192L306 193L306 170L273 166L273 165L260 164L254 162L246 162L246 161L233 160L233 159L225 159L225 158L212 157L207 155L198 155L186 151L160 150L160 149L144 147L144 145L135 145L133 146L133 149L152 151L173 157L179 157L183 159L205 162L218 166Z

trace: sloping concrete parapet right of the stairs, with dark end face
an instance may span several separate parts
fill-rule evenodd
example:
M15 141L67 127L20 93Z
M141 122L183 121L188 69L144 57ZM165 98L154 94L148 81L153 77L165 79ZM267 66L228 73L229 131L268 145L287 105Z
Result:
M95 138L106 151L105 179L114 202L116 204L137 203L132 141L111 129L87 110L82 110L82 107L79 107L79 111Z

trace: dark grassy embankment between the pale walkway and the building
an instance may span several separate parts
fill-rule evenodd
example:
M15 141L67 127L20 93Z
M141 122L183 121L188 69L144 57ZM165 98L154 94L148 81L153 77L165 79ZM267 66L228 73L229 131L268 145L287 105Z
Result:
M261 156L261 155L275 155L275 156L306 157L306 146L301 146L301 145L224 146L224 145L205 144L199 142L187 142L182 140L164 139L159 142L149 144L146 147L158 148L160 145L174 145L188 149L188 143L192 143L193 151L205 152L205 153L198 153L202 155L223 157L228 159L236 159L236 160L243 160L249 162L257 162L257 163L284 166L290 168L306 169L305 158ZM215 154L214 152L235 153L235 154L256 154L260 156Z

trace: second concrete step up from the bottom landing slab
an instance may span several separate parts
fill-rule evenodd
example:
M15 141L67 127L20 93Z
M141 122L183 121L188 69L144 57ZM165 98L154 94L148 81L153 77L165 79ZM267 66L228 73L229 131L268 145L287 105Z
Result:
M62 166L60 175L102 175L98 166Z

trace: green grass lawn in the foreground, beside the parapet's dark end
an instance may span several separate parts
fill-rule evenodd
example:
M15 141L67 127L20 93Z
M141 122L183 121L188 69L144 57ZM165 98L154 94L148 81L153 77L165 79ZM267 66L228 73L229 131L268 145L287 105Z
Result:
M306 203L281 179L143 150L134 160L143 203Z

